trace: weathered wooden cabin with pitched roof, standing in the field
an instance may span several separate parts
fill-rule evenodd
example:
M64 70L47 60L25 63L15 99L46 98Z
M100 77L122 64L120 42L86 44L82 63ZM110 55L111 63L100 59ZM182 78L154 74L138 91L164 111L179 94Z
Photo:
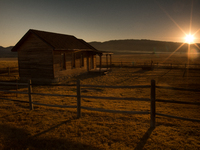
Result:
M88 72L96 68L96 54L103 54L74 36L32 29L11 51L18 52L20 79L33 82L58 82Z

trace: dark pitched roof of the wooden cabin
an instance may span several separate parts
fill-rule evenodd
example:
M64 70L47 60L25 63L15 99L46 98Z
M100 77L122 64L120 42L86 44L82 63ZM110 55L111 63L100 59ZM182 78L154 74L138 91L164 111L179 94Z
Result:
M54 50L89 50L89 51L96 51L94 47L92 47L90 44L85 42L82 39L77 39L76 37L72 35L65 35L65 34L59 34L59 33L52 33L52 32L46 32L46 31L39 31L39 30L33 30L30 29L22 38L21 40L12 48L11 51L17 51L17 48L23 44L23 42L26 40L26 38L30 34L35 34L38 38L40 38L42 41L50 45Z

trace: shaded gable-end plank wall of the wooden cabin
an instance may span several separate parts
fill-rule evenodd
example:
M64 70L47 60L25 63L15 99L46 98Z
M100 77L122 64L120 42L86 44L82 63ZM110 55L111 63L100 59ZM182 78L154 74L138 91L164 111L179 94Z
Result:
M53 79L53 49L36 35L29 37L18 48L21 79Z

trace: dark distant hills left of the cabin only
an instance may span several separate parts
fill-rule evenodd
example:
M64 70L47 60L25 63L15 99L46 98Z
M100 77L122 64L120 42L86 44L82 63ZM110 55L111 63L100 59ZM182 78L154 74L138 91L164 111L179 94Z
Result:
M10 57L17 57L17 53L16 52L11 52L11 49L13 48L13 46L9 46L9 47L2 47L0 46L0 58L10 58Z

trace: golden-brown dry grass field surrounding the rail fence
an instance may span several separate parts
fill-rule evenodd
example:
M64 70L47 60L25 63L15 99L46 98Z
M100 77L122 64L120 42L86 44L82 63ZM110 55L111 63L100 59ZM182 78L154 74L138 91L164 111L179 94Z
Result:
M154 55L156 56L156 55ZM134 58L134 59L133 59ZM163 61L164 55L114 56L113 61ZM198 63L199 58L190 58ZM169 63L187 63L186 56L173 56ZM0 67L17 66L17 61L0 61ZM14 74L17 76L17 74ZM69 78L63 83L89 85L156 85L200 89L200 70L113 68L107 75L88 74ZM0 81L16 77L0 75ZM0 86L0 89L15 87ZM34 93L76 95L76 87L33 86ZM19 87L18 91L27 91ZM0 92L1 97L28 101L28 95ZM81 95L150 98L150 88L110 89L82 88ZM156 89L156 98L200 102L200 92ZM33 101L45 104L76 105L76 98L33 95ZM150 102L82 98L82 106L126 111L150 111ZM199 119L200 106L156 102L158 113ZM200 122L156 116L156 128L150 128L150 115L111 114L82 110L76 119L76 108L54 108L0 100L0 149L200 149Z

